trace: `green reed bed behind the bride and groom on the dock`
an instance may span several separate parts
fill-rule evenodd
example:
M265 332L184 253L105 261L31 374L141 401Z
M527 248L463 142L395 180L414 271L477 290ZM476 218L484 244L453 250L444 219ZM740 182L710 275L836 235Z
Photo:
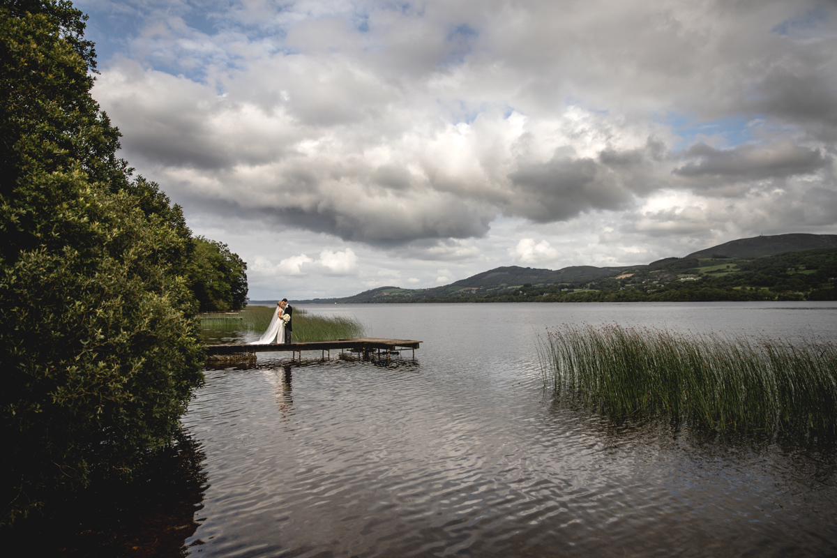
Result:
M233 316L229 314L205 315L202 318L213 320L213 328L216 330L252 330L260 334L270 325L270 319L275 311L275 306L247 306L236 313L236 317L240 317L240 320L232 319ZM223 316L229 319L223 320ZM292 339L295 343L352 339L363 337L363 335L363 325L354 318L315 315L302 308L294 309Z

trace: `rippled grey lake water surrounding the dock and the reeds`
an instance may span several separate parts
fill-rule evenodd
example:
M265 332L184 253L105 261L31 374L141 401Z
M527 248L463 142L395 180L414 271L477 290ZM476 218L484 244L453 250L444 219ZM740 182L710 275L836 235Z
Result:
M837 555L832 446L614 422L553 401L536 351L569 322L834 340L837 303L300 307L423 343L207 371L193 555Z

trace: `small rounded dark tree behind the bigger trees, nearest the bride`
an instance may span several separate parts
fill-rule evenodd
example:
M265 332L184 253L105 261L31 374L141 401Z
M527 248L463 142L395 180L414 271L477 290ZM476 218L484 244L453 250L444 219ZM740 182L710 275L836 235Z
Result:
M247 305L247 264L229 247L194 239L189 280L201 312L241 310Z

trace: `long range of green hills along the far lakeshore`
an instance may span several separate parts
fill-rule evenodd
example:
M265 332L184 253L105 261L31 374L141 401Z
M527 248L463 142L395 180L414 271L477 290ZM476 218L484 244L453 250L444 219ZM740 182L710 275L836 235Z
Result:
M835 284L837 235L781 234L742 238L647 265L504 266L431 289L388 286L300 302L831 300L837 298Z

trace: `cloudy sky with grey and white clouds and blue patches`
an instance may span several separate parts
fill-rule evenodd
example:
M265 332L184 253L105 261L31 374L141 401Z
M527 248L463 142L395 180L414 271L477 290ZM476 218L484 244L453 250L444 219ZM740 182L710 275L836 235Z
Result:
M251 299L837 233L837 3L77 0L122 156Z

